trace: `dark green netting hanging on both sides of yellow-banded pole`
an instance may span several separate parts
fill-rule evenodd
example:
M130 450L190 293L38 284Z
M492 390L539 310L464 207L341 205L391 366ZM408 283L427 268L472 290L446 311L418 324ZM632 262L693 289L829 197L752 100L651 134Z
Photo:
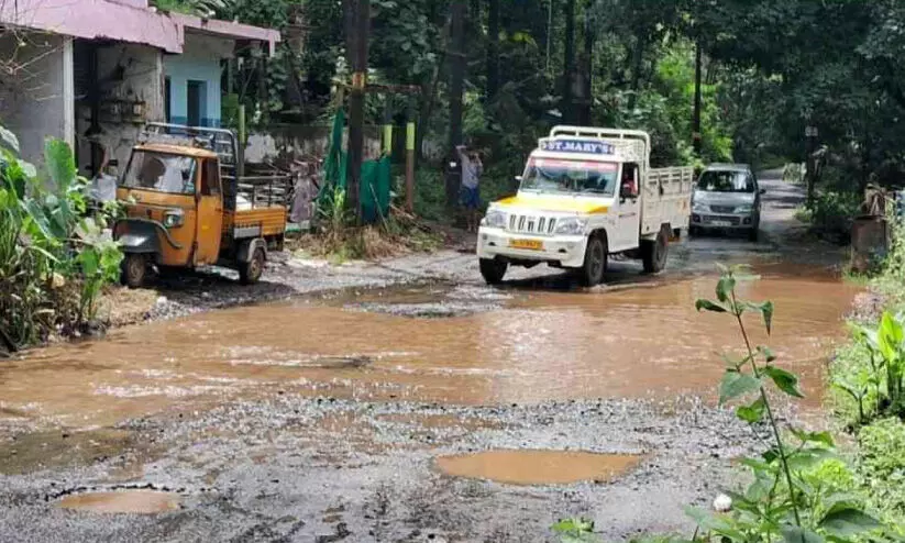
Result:
M346 187L346 153L342 149L342 133L345 114L342 110L333 115L333 130L330 146L323 163L323 185L318 193L318 206L328 206L336 188ZM389 157L379 160L366 160L362 164L362 182L358 187L358 201L362 204L362 221L376 222L389 213L389 189L393 179Z

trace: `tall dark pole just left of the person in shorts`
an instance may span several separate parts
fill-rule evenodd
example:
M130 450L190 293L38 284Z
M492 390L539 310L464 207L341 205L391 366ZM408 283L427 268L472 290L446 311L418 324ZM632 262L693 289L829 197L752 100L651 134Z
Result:
M446 160L446 206L455 209L462 165L456 147L462 145L462 92L465 85L465 0L453 0L451 7L452 51L450 52L450 154Z

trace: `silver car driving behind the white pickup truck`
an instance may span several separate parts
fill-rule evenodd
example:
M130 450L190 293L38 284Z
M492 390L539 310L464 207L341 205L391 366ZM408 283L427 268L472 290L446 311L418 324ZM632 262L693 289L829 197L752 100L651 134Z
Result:
M742 231L757 241L763 192L748 165L711 164L700 174L692 196L691 234Z

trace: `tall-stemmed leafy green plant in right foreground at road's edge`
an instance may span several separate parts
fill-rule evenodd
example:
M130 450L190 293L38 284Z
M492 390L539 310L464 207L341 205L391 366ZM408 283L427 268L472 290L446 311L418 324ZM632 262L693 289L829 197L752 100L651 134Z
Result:
M791 398L803 398L798 377L779 367L775 364L776 357L769 347L751 343L744 322L746 314L760 315L769 335L773 324L773 303L754 303L738 298L736 286L741 281L757 279L748 275L743 267L720 266L720 270L716 299L702 299L695 303L698 311L731 318L738 324L744 346L740 358L725 356L727 367L719 387L719 402L725 405L747 398L747 402L736 408L736 415L754 426L754 430L765 428L771 437L769 448L763 454L741 461L751 470L753 480L742 491L727 492L732 502L729 512L686 508L687 514L698 527L691 541L890 541L885 535L885 527L864 512L859 500L845 491L845 485L834 483L848 479L849 476L845 464L835 454L832 436L828 432L780 426L769 390ZM785 434L791 435L786 437ZM828 477L827 472L832 473L832 477ZM574 536L574 533L562 530L563 527L573 529L574 523L575 521L563 521L554 527L554 531L561 535ZM580 535L588 536L584 533ZM658 541L688 540L666 538Z

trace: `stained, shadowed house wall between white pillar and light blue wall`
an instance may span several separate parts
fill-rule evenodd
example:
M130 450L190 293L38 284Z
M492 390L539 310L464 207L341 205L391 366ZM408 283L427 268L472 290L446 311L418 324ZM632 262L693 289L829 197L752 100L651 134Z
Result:
M79 48L90 47L90 42L77 44ZM76 69L81 87L90 82L86 77L89 56L78 55ZM100 92L100 128L103 131L98 141L119 162L120 170L125 168L132 146L144 123L164 120L164 89L161 74L162 53L144 45L115 43L98 48L98 80ZM88 88L78 89L77 95L87 97ZM77 102L76 141L79 170L90 171L90 142L85 137L91 126L91 104L87 99Z

